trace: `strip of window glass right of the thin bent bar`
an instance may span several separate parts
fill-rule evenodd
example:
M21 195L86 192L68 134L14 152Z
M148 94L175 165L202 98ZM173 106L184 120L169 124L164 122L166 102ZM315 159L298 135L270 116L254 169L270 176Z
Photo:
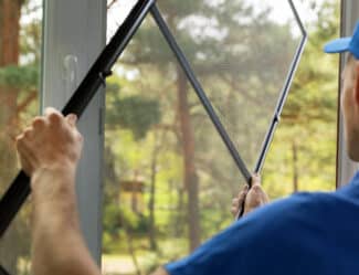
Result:
M340 2L302 6L309 40L263 170L272 199L336 188L339 54L323 46L340 35Z

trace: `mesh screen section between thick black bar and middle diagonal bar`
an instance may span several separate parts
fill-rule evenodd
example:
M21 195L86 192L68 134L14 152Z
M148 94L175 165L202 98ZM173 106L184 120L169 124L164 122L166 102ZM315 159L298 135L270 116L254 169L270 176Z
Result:
M114 72L103 273L149 274L231 222L241 172L150 18Z

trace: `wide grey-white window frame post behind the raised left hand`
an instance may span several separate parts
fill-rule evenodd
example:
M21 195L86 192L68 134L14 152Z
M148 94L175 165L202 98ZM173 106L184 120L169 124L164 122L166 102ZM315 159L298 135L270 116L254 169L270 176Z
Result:
M106 1L44 0L43 21L42 109L46 106L62 109L106 43ZM103 92L97 93L78 123L85 141L76 180L82 231L98 264L102 254Z

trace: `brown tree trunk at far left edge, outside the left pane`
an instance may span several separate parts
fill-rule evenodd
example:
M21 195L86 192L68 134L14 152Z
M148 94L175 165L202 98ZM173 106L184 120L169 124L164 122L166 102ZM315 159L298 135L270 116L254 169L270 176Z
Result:
M0 67L17 65L19 61L20 13L22 0L0 0ZM18 91L9 86L0 86L0 181L1 191L8 188L17 171L17 155L13 137L18 130L17 112ZM18 257L29 248L28 235L23 225L12 224L0 243L0 258L12 274L17 269ZM24 243L25 241L25 243Z

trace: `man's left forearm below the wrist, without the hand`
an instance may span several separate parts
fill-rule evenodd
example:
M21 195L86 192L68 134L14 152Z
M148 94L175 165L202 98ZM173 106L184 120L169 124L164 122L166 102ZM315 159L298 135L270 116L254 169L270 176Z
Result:
M81 234L74 179L73 167L41 169L32 177L35 275L99 274Z

